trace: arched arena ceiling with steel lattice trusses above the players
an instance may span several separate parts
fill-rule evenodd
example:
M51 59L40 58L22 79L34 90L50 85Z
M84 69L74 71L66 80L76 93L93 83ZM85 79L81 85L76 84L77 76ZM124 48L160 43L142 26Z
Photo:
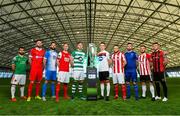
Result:
M168 51L169 67L180 66L179 0L0 0L0 66L9 67L19 46L28 52L34 40L48 48L56 41L70 51L82 41L107 44L122 51L128 42L135 51L159 42Z

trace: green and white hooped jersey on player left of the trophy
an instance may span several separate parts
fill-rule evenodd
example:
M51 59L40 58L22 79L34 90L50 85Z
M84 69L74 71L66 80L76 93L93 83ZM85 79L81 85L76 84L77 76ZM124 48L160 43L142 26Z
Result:
M75 50L72 52L72 57L74 58L74 71L83 71L86 54L83 51Z

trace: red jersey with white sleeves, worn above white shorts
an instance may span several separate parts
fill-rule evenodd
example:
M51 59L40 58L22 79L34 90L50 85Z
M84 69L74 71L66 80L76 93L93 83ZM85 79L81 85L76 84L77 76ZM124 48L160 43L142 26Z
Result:
M59 52L59 71L69 72L71 54L68 52Z

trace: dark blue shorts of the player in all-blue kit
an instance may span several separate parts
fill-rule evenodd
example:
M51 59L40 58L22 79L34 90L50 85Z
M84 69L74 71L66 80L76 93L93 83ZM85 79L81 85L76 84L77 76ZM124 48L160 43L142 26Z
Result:
M126 82L137 82L137 72L136 70L131 70L131 71L125 71L125 79Z

